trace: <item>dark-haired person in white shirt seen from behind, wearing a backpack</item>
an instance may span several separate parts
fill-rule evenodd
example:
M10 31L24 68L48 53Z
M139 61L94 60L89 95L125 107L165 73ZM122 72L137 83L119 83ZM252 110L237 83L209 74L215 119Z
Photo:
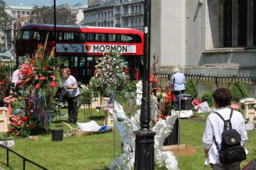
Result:
M213 99L215 102L215 111L220 113L225 120L229 120L231 110L227 106L230 105L232 99L230 90L225 88L215 90L215 92L213 92ZM234 110L230 121L232 129L236 129L241 135L241 145L244 145L248 138L242 114L239 111ZM211 113L207 118L204 137L202 138L206 156L206 165L211 164L214 170L239 170L241 169L241 162L235 162L227 166L220 163L216 144L218 145L218 148L221 147L223 128L223 120L216 113ZM216 144L213 137L215 137Z

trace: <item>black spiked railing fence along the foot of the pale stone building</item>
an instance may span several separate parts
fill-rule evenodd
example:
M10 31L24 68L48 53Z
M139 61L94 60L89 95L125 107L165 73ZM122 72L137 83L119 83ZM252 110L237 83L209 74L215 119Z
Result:
M172 77L171 72L165 72L165 71L156 71L156 77L161 78L163 80L170 80ZM196 83L199 82L214 82L216 85L222 83L222 84L230 84L234 83L236 81L241 81L241 83L245 84L255 84L256 83L256 77L248 76L248 75L205 75L205 74L198 74L198 73L184 73L186 80L192 80Z

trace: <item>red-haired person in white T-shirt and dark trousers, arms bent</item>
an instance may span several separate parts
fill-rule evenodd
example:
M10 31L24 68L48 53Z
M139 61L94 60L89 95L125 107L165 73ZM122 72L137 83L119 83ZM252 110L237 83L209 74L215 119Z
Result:
M79 88L77 85L77 80L70 75L70 68L63 69L63 78L64 78L64 89L67 94L68 101L68 123L77 123L77 114L78 114L78 106L77 99L80 94Z

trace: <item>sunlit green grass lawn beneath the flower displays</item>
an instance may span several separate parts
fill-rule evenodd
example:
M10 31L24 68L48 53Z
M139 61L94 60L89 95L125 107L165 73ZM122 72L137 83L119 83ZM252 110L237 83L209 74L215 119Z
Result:
M126 106L124 106L126 110ZM66 110L64 110L66 111ZM98 124L103 124L103 111L96 112L93 109L93 118ZM204 150L202 136L204 133L205 117L195 114L196 117L189 120L181 120L181 144L193 145L197 148L197 154L187 157L179 157L180 169L203 169ZM55 120L53 120L55 121ZM79 110L78 122L84 122L84 110ZM75 125L72 125L75 127ZM54 123L52 129L68 129L64 124ZM51 135L39 135L39 141L15 138L15 146L11 148L27 159L33 160L47 169L109 169L114 159L114 133L92 134L81 137L64 138L63 141L51 141ZM249 151L248 158L242 162L242 167L256 157L253 147L256 143L255 131L248 131L248 142L246 148ZM118 132L115 132L116 156L121 153ZM4 169L22 169L22 159L10 153L10 166L7 168L6 153L0 148L0 167ZM26 169L36 169L33 165L26 163ZM156 169L158 169L156 167ZM210 169L207 167L207 169Z

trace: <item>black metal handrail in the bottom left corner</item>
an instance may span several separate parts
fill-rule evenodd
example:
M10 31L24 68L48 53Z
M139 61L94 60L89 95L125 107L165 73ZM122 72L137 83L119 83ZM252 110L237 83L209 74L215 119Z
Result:
M0 144L0 148L4 148L6 150L6 166L7 167L10 167L10 152L11 153L14 153L15 155L17 155L18 157L20 157L20 159L22 159L23 161L23 170L26 169L26 162L29 162L30 164L33 164L34 166L36 167L39 167L40 169L44 169L44 170L47 170L47 168L43 167L43 166L40 166L39 164L36 164L35 162L33 162L32 160L29 160L29 159L26 159L26 157L23 157L22 155L20 155L19 153L17 152L14 152L13 150L11 150L10 148L4 146L4 145L1 145ZM2 158L3 159L3 158Z

